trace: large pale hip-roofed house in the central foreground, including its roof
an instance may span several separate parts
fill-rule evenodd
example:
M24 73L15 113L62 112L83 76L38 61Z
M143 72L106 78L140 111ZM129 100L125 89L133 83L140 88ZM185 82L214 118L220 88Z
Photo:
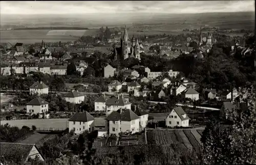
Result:
M140 117L131 109L120 108L113 111L105 120L107 123L108 134L115 134L119 136L121 132L136 133L140 131Z

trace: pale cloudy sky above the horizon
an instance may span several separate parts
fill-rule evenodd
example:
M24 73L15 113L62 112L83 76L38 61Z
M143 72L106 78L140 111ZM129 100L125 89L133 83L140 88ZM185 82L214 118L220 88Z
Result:
M255 11L254 1L1 1L0 14L210 13Z

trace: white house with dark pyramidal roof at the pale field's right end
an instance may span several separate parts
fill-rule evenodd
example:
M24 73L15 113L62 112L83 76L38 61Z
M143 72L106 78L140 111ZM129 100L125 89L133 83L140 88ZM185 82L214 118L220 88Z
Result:
M84 131L92 131L92 123L94 117L87 111L76 112L69 119L69 129L74 130L76 134L80 134Z

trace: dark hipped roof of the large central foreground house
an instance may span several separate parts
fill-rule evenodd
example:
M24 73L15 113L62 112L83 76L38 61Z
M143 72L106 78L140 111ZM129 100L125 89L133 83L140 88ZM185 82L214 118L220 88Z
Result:
M105 120L107 121L133 121L136 119L140 119L140 117L134 113L131 109L119 109L117 111L113 111L110 115L106 116Z

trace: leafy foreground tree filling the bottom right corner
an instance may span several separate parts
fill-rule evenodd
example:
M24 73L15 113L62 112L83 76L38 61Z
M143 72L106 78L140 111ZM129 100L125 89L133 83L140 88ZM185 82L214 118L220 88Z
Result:
M248 108L237 106L227 110L228 120L225 127L217 119L207 124L201 141L204 146L203 163L206 164L255 164L256 163L256 110L255 88L243 91Z

